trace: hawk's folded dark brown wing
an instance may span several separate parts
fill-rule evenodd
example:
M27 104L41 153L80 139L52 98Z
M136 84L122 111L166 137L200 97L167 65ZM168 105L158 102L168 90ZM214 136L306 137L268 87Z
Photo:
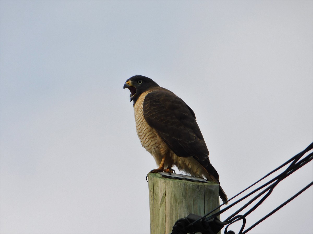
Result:
M182 99L167 89L156 88L146 95L143 112L147 123L177 156L195 158L218 180L194 112Z

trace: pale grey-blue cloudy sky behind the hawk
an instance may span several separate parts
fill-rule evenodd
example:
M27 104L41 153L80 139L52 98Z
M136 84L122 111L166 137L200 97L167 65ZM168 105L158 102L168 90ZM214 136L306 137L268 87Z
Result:
M136 74L194 110L228 197L313 140L313 1L0 4L1 233L150 232ZM312 178L309 163L246 227ZM251 233L313 233L312 190Z

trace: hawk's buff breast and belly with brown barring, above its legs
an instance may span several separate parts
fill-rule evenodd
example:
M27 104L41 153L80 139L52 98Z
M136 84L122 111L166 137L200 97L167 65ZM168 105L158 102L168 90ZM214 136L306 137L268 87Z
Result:
M169 152L170 149L156 130L150 127L143 115L143 102L149 92L150 91L146 91L142 93L134 105L136 131L142 147L154 157L156 164L159 166L162 157ZM167 164L169 164L169 162Z

